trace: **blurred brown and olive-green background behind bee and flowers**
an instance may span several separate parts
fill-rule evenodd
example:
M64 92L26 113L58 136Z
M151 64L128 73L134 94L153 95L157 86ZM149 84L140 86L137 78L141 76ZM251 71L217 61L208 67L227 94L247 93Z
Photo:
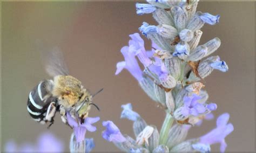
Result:
M151 15L137 16L135 2L2 2L2 151L9 140L35 142L43 131L51 131L69 151L72 130L56 116L48 130L32 121L26 101L31 89L43 79L50 79L40 61L36 40L46 46L58 46L64 53L70 73L92 93L104 88L94 99L101 108L90 116L112 120L122 133L133 136L132 122L120 119L120 106L131 102L149 124L158 129L164 112L140 89L127 72L114 75L116 63L123 60L120 48L127 45L129 34L138 32ZM210 101L218 104L218 116L230 113L234 131L226 137L226 151L255 151L255 2L200 2L198 10L220 14L220 23L205 25L201 44L214 37L221 46L220 55L229 66L227 73L214 71L206 78ZM146 39L145 39L146 40ZM149 49L150 42L148 41ZM103 127L96 123L93 151L119 151L101 137ZM188 138L199 137L215 127L215 120L193 127ZM219 146L214 145L213 151Z

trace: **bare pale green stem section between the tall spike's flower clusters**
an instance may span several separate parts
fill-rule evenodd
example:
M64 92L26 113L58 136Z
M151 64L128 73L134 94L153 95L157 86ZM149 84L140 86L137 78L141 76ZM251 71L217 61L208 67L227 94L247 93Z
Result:
M159 144L165 144L167 141L169 129L172 127L173 117L170 113L166 113L163 126L160 131L160 140Z

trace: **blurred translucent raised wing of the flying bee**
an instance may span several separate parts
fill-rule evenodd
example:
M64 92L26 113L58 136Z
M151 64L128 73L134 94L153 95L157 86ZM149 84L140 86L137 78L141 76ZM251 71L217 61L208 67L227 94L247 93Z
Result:
M51 76L69 75L69 69L64 62L64 56L59 47L53 47L48 51L41 51L42 61L46 72Z

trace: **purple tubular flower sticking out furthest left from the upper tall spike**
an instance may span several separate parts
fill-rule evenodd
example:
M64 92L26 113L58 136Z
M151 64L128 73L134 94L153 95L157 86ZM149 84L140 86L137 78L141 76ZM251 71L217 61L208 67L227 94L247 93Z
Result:
M135 58L135 54L129 52L129 47L124 46L121 49L121 52L124 56L125 61L120 61L117 63L116 75L119 74L124 68L126 68L134 78L138 81L143 79L142 69L140 69L138 61Z

